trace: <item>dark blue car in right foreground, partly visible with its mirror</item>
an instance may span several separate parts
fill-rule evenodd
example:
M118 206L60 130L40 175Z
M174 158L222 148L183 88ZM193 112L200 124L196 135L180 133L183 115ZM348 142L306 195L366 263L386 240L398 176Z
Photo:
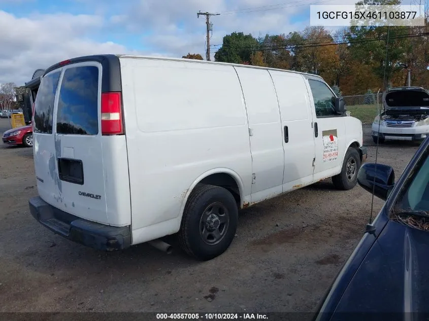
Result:
M386 200L321 300L315 320L429 320L429 140L398 182L367 163L358 184Z

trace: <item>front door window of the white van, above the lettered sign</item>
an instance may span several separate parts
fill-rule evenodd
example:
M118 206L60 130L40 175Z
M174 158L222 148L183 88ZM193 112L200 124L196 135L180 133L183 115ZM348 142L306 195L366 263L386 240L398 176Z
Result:
M314 107L316 109L316 117L336 116L334 94L322 82L317 80L308 80L311 93L313 94Z

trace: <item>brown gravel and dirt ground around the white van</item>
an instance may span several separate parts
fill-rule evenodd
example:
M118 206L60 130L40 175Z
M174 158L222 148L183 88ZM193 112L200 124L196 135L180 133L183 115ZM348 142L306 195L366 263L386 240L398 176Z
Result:
M0 132L8 129L0 119ZM367 129L368 130L368 129ZM375 147L366 134L369 162ZM417 150L386 144L397 177ZM312 311L361 238L371 195L331 181L241 211L226 253L194 262L150 245L101 253L54 235L29 214L32 150L0 142L0 311ZM382 202L375 200L375 210ZM174 244L175 245L175 244Z

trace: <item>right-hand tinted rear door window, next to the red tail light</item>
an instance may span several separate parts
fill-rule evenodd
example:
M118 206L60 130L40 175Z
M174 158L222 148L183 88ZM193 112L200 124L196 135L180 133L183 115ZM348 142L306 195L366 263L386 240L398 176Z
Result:
M98 68L66 69L59 90L56 132L98 134Z

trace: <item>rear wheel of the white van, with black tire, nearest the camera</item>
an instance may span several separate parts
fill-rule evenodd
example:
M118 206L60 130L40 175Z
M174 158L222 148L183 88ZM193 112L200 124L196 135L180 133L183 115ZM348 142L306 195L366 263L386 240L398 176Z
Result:
M206 221L203 221L205 219ZM198 260L211 260L225 252L232 243L237 221L237 202L227 189L199 184L190 194L183 211L178 233L180 246L188 255ZM217 242L215 234L211 234L212 229L219 232L220 238Z

